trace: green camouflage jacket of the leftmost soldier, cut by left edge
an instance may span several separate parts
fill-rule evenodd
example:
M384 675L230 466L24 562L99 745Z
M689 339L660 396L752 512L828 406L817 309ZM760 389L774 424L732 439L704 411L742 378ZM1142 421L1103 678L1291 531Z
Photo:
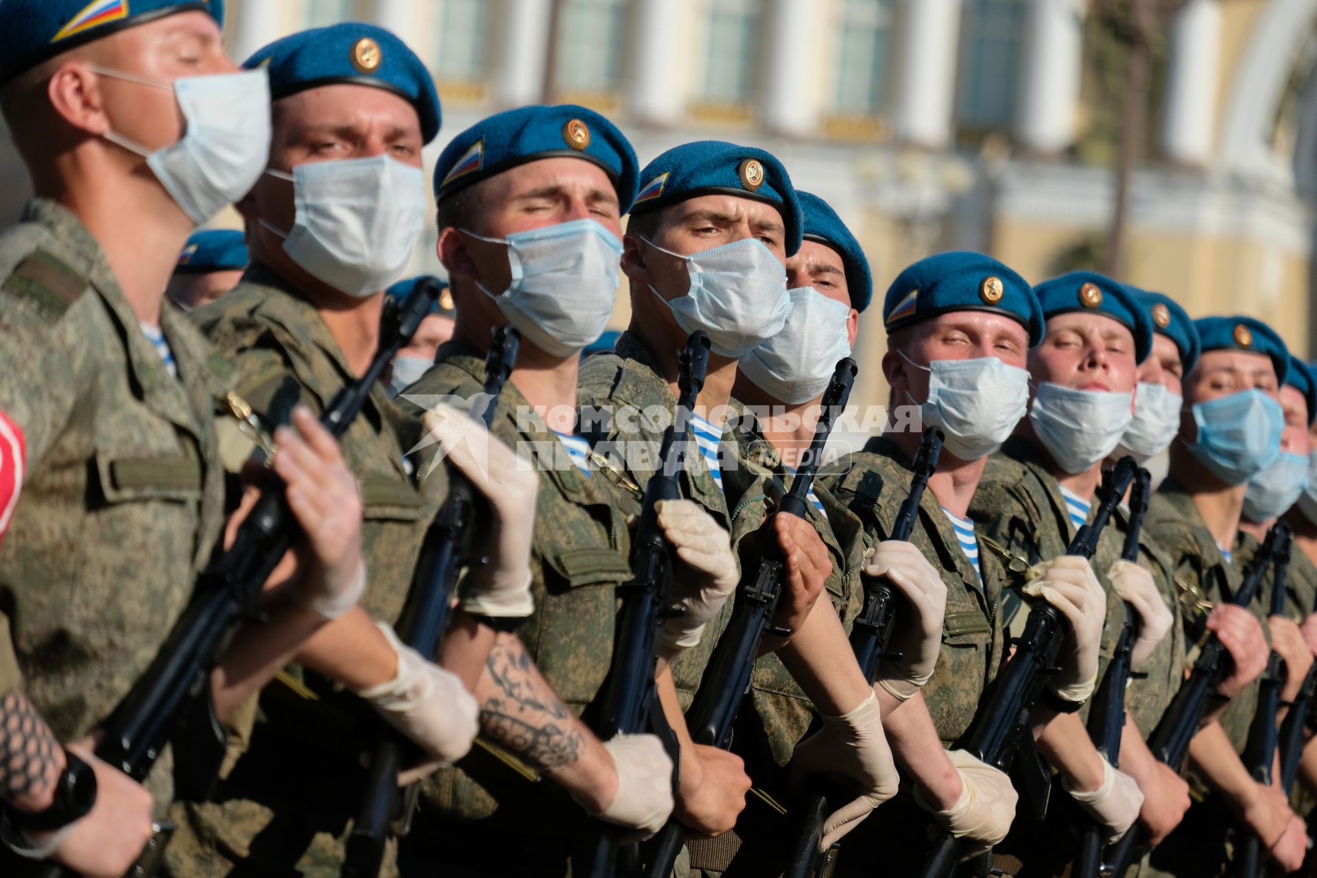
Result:
M63 741L100 724L155 657L224 520L220 365L178 312L161 328L178 379L66 208L32 201L0 234L0 409L28 458L0 606L24 691Z

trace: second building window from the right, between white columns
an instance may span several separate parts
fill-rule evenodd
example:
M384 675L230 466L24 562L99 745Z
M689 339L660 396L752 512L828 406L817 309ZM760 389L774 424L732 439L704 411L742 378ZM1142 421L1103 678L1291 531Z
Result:
M836 39L832 111L880 116L886 108L893 0L843 0Z

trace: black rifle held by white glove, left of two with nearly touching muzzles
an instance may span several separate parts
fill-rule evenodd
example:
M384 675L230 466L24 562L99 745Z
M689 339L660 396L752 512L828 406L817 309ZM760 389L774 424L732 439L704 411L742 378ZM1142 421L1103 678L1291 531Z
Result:
M1134 458L1122 457L1104 477L1102 502L1093 521L1079 529L1065 554L1093 557L1102 528L1134 480L1137 469ZM1031 763L1021 767L1030 771L1025 783L1031 798L1040 803L1039 819L1046 812L1051 779L1034 749L1029 711L1043 694L1048 675L1056 669L1064 640L1065 621L1060 612L1047 603L1036 602L1025 620L1025 633L1015 640L1014 657L993 682L992 694L975 716L964 744L965 750L1001 771L1010 771L1017 753L1023 750ZM959 839L950 832L940 832L919 874L923 878L948 878L960 862L960 848Z

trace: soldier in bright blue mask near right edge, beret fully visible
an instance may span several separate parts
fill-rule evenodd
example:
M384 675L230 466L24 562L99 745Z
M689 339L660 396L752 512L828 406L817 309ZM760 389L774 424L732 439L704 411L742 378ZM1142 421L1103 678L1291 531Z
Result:
M1242 579L1233 554L1251 554L1256 546L1238 530L1238 509L1245 482L1277 453L1284 413L1276 396L1289 355L1270 328L1247 317L1208 317L1195 325L1202 353L1184 380L1180 440L1171 445L1171 473L1144 527L1173 565L1187 640L1196 641L1205 629L1217 633L1233 671L1189 748L1191 786L1213 795L1191 807L1152 852L1151 874L1217 874L1237 821L1255 832L1280 865L1296 869L1304 853L1303 823L1279 791L1251 779L1238 756L1256 704L1255 681L1266 667L1268 648L1258 620L1267 604L1264 595L1247 611L1223 603ZM1220 606L1208 615L1213 604Z

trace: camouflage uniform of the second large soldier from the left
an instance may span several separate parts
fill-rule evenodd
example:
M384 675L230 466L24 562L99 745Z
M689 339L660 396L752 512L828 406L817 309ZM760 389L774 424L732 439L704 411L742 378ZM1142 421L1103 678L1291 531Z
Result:
M192 319L236 370L234 392L271 432L287 423L294 405L319 413L356 380L315 305L263 267L249 269L232 292ZM221 417L217 429L225 466L240 470L252 441L232 416ZM340 438L362 496L369 577L362 606L389 623L402 611L424 524L437 505L423 499L403 467L403 453L419 432L377 386ZM441 495L440 484L427 487ZM338 875L349 816L362 790L357 757L378 721L324 679L307 675L307 686L299 686L300 678L291 670L265 688L266 721L212 799L175 806L180 829L169 848L174 874L217 874L242 862ZM391 874L392 856L387 860L385 873Z

